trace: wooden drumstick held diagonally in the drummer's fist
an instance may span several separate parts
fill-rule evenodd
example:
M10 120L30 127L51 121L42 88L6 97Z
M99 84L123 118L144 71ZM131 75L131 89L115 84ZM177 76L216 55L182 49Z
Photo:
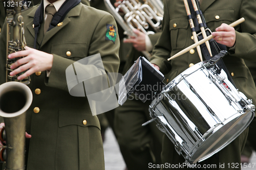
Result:
M231 23L229 26L230 26L230 27L235 27L235 26L239 25L240 23L242 23L244 20L245 20L244 18L240 18L240 19L238 19L237 21L234 21L233 23ZM211 38L214 38L214 36L209 35L208 37L206 37L206 38L204 38L204 39L198 41L197 43L186 47L184 50L182 50L182 51L180 51L179 53L177 53L176 55L174 55L174 56L168 58L167 60L168 60L168 61L169 61L169 60L172 60L172 59L174 59L174 58L176 58L176 57L178 57L178 56L180 56L180 55L182 55L182 54L188 52L189 50L195 48L196 46L201 45L201 44L204 43L205 41L209 41Z

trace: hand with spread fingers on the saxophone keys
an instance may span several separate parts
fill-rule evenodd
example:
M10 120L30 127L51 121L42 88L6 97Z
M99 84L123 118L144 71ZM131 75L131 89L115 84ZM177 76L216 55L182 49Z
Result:
M51 70L53 62L52 54L41 52L28 46L25 48L26 50L24 51L12 53L8 56L9 59L25 56L11 65L11 69L14 70L10 72L10 76L27 70L23 75L17 78L18 80L22 80L32 75L34 72Z

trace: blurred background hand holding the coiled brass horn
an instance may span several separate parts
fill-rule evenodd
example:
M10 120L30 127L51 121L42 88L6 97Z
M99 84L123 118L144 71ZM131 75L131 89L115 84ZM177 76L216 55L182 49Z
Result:
M146 50L146 42L145 42L145 34L137 29L133 29L133 32L137 35L137 37L131 37L129 39L123 40L124 43L133 43L133 46L139 52Z

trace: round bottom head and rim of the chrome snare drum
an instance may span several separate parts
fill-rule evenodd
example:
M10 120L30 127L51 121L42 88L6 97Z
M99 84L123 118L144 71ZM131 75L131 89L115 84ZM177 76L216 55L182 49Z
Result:
M221 125L217 131L207 135L204 141L196 144L189 154L191 155L190 162L201 162L225 148L249 126L253 117L254 113L247 111L236 118L230 117L230 121L228 119L224 121L224 125Z

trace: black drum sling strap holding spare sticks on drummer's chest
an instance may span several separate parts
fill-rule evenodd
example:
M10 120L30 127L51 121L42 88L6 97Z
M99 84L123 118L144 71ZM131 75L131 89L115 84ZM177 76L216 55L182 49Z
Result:
M192 32L196 31L196 33L198 35L198 41L200 41L200 40L203 39L203 35L200 34L200 32L201 32L200 28L201 27L204 27L207 36L209 36L211 34L211 32L210 32L210 29L206 25L206 21L205 21L205 18L203 16L202 11L200 10L200 5L199 5L198 1L196 0L197 6L198 6L198 11L196 11L196 12L194 10L194 7L193 7L193 4L192 4L191 0L187 0L187 2L188 2L189 10L190 10L190 13L191 13L191 15L188 15L188 19L193 19L193 22L194 22L194 25L195 25L195 28L192 28L191 31ZM198 20L197 20L197 15L198 14L202 18L202 23L200 23L200 24L198 23ZM220 54L220 52L222 50L224 50L224 51L227 50L226 45L222 45L220 43L217 43L214 39L210 39L209 43L210 43L210 49L211 49L212 56L216 56L216 57L220 56L218 54ZM206 44L205 43L201 44L200 48L201 48L202 55L203 55L204 59L208 60L208 61L211 61L213 58L210 57L209 51L206 47ZM222 56L222 57L224 57L224 56ZM228 71L227 67L225 66L223 60L222 59L218 60L218 62L216 64L218 65L220 70L223 69L226 72L228 80L233 84L234 87L236 87L236 85L234 84L233 79L230 76L229 71Z

